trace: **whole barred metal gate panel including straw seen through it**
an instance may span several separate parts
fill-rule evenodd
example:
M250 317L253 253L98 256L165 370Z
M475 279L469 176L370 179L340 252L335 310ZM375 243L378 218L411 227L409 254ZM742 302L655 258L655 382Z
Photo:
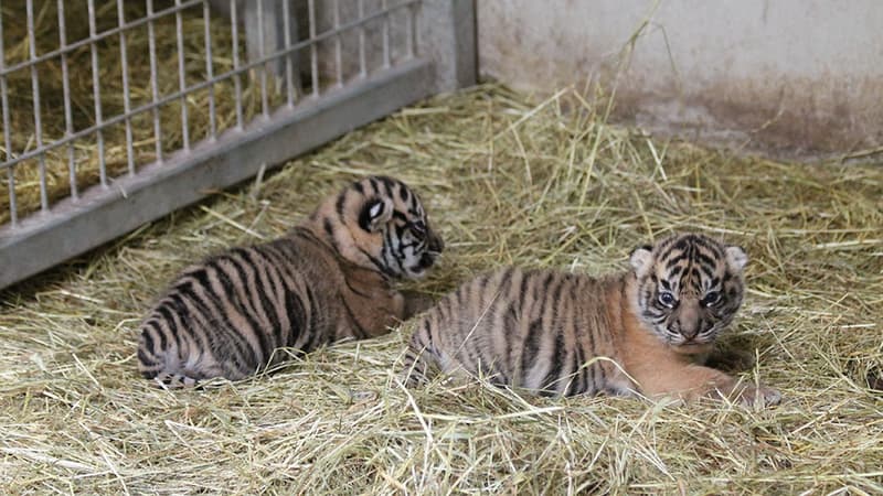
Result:
M0 288L472 83L474 15L464 0L3 0Z

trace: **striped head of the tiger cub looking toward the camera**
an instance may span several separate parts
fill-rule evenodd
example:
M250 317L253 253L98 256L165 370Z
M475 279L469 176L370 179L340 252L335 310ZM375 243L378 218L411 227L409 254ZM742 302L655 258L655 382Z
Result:
M742 304L747 262L742 248L695 234L635 249L640 319L678 353L710 351Z

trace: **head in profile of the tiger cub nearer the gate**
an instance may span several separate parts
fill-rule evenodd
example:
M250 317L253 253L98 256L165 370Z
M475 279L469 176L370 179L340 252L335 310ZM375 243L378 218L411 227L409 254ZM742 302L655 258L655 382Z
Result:
M423 277L445 248L417 195L386 176L352 183L310 222L343 258L391 278Z

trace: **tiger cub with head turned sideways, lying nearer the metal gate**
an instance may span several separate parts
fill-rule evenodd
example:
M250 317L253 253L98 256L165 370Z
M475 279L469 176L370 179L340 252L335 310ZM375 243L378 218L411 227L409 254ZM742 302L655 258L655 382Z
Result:
M169 387L242 379L414 313L391 281L425 274L444 249L417 195L372 176L327 198L288 235L191 267L141 324L141 375Z

